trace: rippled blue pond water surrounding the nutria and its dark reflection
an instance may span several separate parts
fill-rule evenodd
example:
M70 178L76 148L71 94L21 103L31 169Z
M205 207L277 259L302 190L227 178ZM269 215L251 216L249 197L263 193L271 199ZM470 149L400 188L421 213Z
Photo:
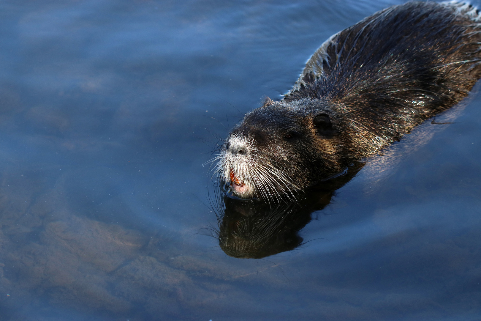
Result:
M296 249L212 236L219 139L402 2L2 1L0 320L480 320L476 94L368 159Z

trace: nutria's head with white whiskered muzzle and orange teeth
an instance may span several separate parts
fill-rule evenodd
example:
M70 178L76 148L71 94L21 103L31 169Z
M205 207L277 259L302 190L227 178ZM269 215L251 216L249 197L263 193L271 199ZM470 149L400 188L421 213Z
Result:
M240 198L293 197L341 172L340 121L332 103L266 99L248 113L221 147L218 170Z

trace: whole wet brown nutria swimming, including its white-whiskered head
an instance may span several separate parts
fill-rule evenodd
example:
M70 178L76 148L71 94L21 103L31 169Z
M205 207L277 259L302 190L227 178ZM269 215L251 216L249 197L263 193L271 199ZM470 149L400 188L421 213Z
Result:
M240 198L293 195L377 153L468 95L481 75L478 10L408 2L329 38L281 101L248 113L221 148Z

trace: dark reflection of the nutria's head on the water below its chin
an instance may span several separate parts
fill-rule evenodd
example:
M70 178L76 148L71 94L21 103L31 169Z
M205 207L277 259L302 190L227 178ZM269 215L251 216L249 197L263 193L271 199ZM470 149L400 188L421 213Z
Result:
M298 202L281 202L271 207L259 200L224 196L224 215L218 215L220 247L238 258L262 258L293 250L304 241L298 232L311 221L311 213L328 205L334 191L351 180L363 165L356 163L345 175L308 189Z

